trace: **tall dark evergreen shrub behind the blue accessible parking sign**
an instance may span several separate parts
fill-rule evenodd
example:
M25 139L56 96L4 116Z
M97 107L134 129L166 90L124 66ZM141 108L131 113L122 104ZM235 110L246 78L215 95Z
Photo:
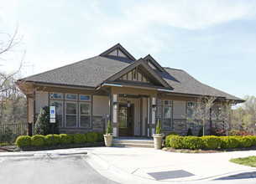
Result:
M57 120L57 119L56 119ZM54 125L54 133L59 134L58 122L50 123L50 107L44 106L38 115L34 125L34 134L36 135L49 135L52 133L52 125Z

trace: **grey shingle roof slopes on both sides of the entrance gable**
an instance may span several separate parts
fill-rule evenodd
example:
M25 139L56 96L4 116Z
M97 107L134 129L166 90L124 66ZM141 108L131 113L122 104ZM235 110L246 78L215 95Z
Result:
M108 55L96 56L58 69L52 69L41 74L29 76L28 78L25 78L25 80L44 84L63 84L97 88L97 86L105 79L117 74L122 69L127 68L130 64L137 61ZM243 101L238 97L228 95L221 90L202 84L183 70L170 68L164 69L168 74L161 72L158 72L157 74L165 79L165 81L173 88L171 93L218 96L225 97L228 100Z

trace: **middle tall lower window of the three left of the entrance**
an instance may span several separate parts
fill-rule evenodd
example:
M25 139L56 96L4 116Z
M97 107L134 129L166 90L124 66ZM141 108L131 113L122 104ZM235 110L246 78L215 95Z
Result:
M76 127L76 102L65 102L66 127Z

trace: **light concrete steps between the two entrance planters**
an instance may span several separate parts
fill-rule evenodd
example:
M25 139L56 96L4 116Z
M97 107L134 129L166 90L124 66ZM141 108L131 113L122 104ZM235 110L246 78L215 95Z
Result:
M154 148L154 141L148 139L113 139L112 146Z

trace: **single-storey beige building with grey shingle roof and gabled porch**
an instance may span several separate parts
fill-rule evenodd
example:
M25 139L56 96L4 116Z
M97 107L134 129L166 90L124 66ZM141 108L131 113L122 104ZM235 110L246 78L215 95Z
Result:
M188 128L200 128L186 123L197 97L243 102L184 70L162 67L150 55L134 59L119 43L96 57L17 84L27 95L28 122L35 122L43 106L55 105L62 133L102 132L110 119L114 136L151 137L159 119L163 132L184 135Z

